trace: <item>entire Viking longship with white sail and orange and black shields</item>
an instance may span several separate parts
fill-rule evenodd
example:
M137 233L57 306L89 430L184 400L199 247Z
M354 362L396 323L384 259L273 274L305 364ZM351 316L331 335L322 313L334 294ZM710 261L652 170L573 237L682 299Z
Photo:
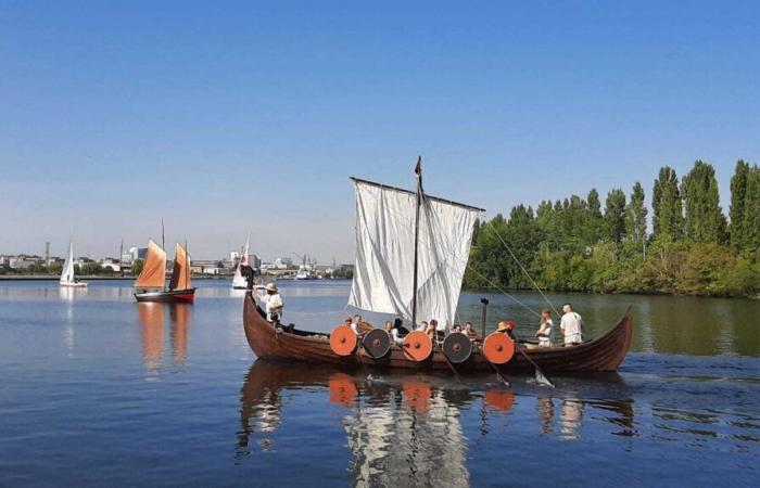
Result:
M454 323L476 220L484 211L428 195L420 162L417 191L352 178L356 195L356 264L349 305L417 323L418 317ZM382 329L360 336L347 325L331 333L301 331L267 321L253 296L244 298L243 324L251 349L261 358L344 368L422 371L530 372L537 365L558 373L616 371L631 345L633 314L595 341L577 346L524 348L504 333L482 344L455 332L441 342L414 331L395 344Z

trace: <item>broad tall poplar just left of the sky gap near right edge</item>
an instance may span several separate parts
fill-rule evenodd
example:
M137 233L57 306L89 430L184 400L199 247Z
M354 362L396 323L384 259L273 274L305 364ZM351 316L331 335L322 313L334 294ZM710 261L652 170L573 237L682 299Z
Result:
M697 160L681 182L686 216L684 230L693 242L724 243L726 221L720 206L712 165Z

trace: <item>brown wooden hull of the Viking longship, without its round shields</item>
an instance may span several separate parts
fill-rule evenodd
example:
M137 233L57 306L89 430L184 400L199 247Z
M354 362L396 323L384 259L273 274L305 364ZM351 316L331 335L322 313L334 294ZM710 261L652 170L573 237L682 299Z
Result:
M419 371L451 371L443 351L433 349L430 358L422 362L414 362L406 358L398 347L382 359L373 359L364 349L356 354L342 357L330 349L329 334L305 333L296 331L289 333L277 331L264 317L256 305L251 292L245 294L243 307L243 326L251 349L259 358L288 359L312 363L333 364L343 368L382 368ZM554 347L529 349L530 358L547 372L582 373L599 371L617 371L625 359L633 334L633 314L629 307L625 314L604 336L572 347ZM457 373L493 372L490 363L480 350L473 350L470 358L455 367ZM499 367L504 373L532 372L533 367L520 354L506 364Z

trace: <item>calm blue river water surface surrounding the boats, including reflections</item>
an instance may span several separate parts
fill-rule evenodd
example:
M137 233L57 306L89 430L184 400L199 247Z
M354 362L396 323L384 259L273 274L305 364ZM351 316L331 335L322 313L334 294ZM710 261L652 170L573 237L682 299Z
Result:
M256 361L227 283L194 306L129 285L0 282L0 486L759 485L760 301L550 296L590 335L628 305L636 329L619 374L548 389ZM329 331L349 284L281 290L287 322ZM480 323L480 296L460 320ZM489 298L492 325L536 328Z

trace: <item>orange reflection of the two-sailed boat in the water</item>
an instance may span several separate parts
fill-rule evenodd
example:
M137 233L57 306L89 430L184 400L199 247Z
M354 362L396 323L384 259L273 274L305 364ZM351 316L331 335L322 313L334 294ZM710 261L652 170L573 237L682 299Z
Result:
M190 304L136 304L142 335L142 362L148 370L164 363L164 323L168 314L172 362L185 363L188 356L188 329L192 313Z

